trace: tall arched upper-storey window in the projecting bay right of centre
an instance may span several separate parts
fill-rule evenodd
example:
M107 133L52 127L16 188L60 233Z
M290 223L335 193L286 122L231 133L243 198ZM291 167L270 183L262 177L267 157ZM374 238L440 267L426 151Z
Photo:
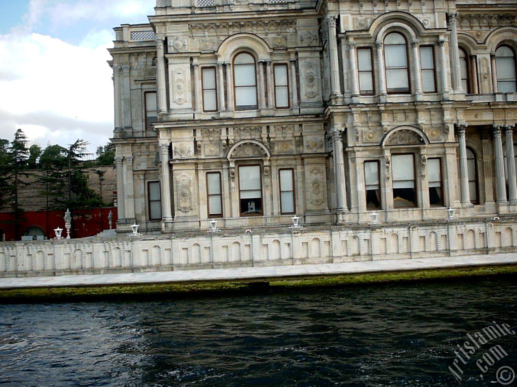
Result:
M384 38L384 63L386 66L387 92L409 92L407 44L406 39L401 34L391 33Z

